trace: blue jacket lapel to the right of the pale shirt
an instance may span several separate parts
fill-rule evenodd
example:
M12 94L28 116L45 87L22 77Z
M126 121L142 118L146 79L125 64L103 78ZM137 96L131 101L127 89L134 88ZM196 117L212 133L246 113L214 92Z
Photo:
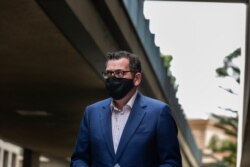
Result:
M123 150L125 149L129 140L135 133L137 127L140 125L146 113L145 110L143 109L144 107L146 107L146 105L143 104L142 98L143 96L140 93L138 93L118 145L118 149L116 152L116 161L119 160Z

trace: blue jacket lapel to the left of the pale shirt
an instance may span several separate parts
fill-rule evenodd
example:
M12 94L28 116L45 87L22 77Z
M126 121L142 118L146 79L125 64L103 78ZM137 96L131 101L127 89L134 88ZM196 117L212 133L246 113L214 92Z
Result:
M112 138L112 126L111 126L111 111L110 111L110 103L111 99L108 100L102 109L103 111L100 112L100 122L101 122L101 129L103 132L104 139L107 143L108 149L112 157L115 157L114 146L113 146L113 138Z

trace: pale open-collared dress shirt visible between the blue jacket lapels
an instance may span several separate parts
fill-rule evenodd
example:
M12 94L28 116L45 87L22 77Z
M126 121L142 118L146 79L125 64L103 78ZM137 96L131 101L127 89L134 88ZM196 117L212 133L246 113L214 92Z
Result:
M122 132L130 115L131 109L134 105L135 98L137 95L137 91L128 101L128 103L122 108L122 110L115 107L114 103L111 103L111 111L112 111L112 137L115 153L117 151Z

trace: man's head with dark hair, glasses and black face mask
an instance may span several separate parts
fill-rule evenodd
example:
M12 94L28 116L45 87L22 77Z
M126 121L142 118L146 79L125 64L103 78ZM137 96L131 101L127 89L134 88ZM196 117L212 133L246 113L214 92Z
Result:
M141 83L140 60L126 51L109 52L103 76L111 97L119 100L129 96Z

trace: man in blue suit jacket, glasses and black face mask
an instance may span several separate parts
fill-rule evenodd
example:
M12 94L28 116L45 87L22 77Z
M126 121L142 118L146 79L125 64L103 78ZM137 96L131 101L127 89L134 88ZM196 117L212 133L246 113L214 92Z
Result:
M180 167L177 127L167 104L143 96L138 57L107 54L111 98L86 107L71 167Z

